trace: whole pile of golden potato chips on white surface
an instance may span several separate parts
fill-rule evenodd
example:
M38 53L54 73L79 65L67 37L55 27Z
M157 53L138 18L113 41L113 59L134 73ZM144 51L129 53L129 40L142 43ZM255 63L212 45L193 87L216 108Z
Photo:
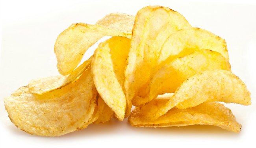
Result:
M104 36L112 37L78 66ZM4 99L11 121L33 135L64 135L113 115L136 127L208 124L238 133L241 125L217 102L251 104L231 72L226 41L167 7L72 24L54 51L61 75L32 80Z

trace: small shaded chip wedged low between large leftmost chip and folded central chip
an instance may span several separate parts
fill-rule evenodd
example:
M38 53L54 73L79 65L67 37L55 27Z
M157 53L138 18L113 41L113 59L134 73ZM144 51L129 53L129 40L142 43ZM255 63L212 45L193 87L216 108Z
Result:
M107 122L114 115L114 112L111 110L111 108L108 107L108 105L104 102L104 100L102 100L100 96L99 96L98 102L99 102L99 105L98 105L99 115L97 120L93 122L94 124Z

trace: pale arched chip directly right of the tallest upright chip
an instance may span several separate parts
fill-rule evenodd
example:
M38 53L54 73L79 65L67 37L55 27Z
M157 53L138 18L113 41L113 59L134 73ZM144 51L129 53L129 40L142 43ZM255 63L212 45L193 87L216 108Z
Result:
M210 31L200 28L185 28L171 34L163 44L158 58L160 65L169 60L182 57L198 49L210 49L219 52L228 60L226 41Z

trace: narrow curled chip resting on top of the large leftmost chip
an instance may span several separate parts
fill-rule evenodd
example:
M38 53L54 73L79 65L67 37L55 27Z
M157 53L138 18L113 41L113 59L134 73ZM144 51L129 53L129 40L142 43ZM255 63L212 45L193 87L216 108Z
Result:
M84 61L79 67L72 71L68 76L50 76L31 80L28 84L29 90L33 94L44 94L49 91L60 89L76 80L84 70L91 65L91 58Z

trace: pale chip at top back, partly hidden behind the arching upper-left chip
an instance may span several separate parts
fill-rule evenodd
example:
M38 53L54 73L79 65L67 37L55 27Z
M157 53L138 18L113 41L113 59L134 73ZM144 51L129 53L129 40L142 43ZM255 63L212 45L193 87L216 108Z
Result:
M96 25L106 26L117 31L132 34L134 16L125 13L110 13L96 22Z

